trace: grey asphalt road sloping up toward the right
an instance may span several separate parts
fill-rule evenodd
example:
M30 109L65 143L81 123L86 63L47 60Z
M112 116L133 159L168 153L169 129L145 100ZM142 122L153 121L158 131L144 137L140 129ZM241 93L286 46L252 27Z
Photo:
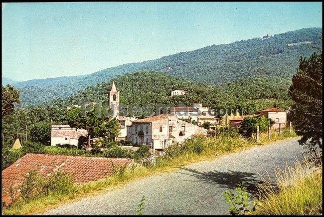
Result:
M255 146L213 161L190 164L172 173L137 180L120 189L65 204L43 215L136 215L146 196L144 215L228 215L223 192L244 180L253 193L259 174L273 178L275 166L302 159L297 138Z

